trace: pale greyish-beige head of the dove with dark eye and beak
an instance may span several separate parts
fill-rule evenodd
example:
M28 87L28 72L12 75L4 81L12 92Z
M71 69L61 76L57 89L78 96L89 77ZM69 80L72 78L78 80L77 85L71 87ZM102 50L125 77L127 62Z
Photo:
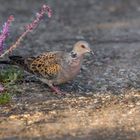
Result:
M94 54L86 41L78 41L74 44L72 54L75 56L83 56L86 53Z

